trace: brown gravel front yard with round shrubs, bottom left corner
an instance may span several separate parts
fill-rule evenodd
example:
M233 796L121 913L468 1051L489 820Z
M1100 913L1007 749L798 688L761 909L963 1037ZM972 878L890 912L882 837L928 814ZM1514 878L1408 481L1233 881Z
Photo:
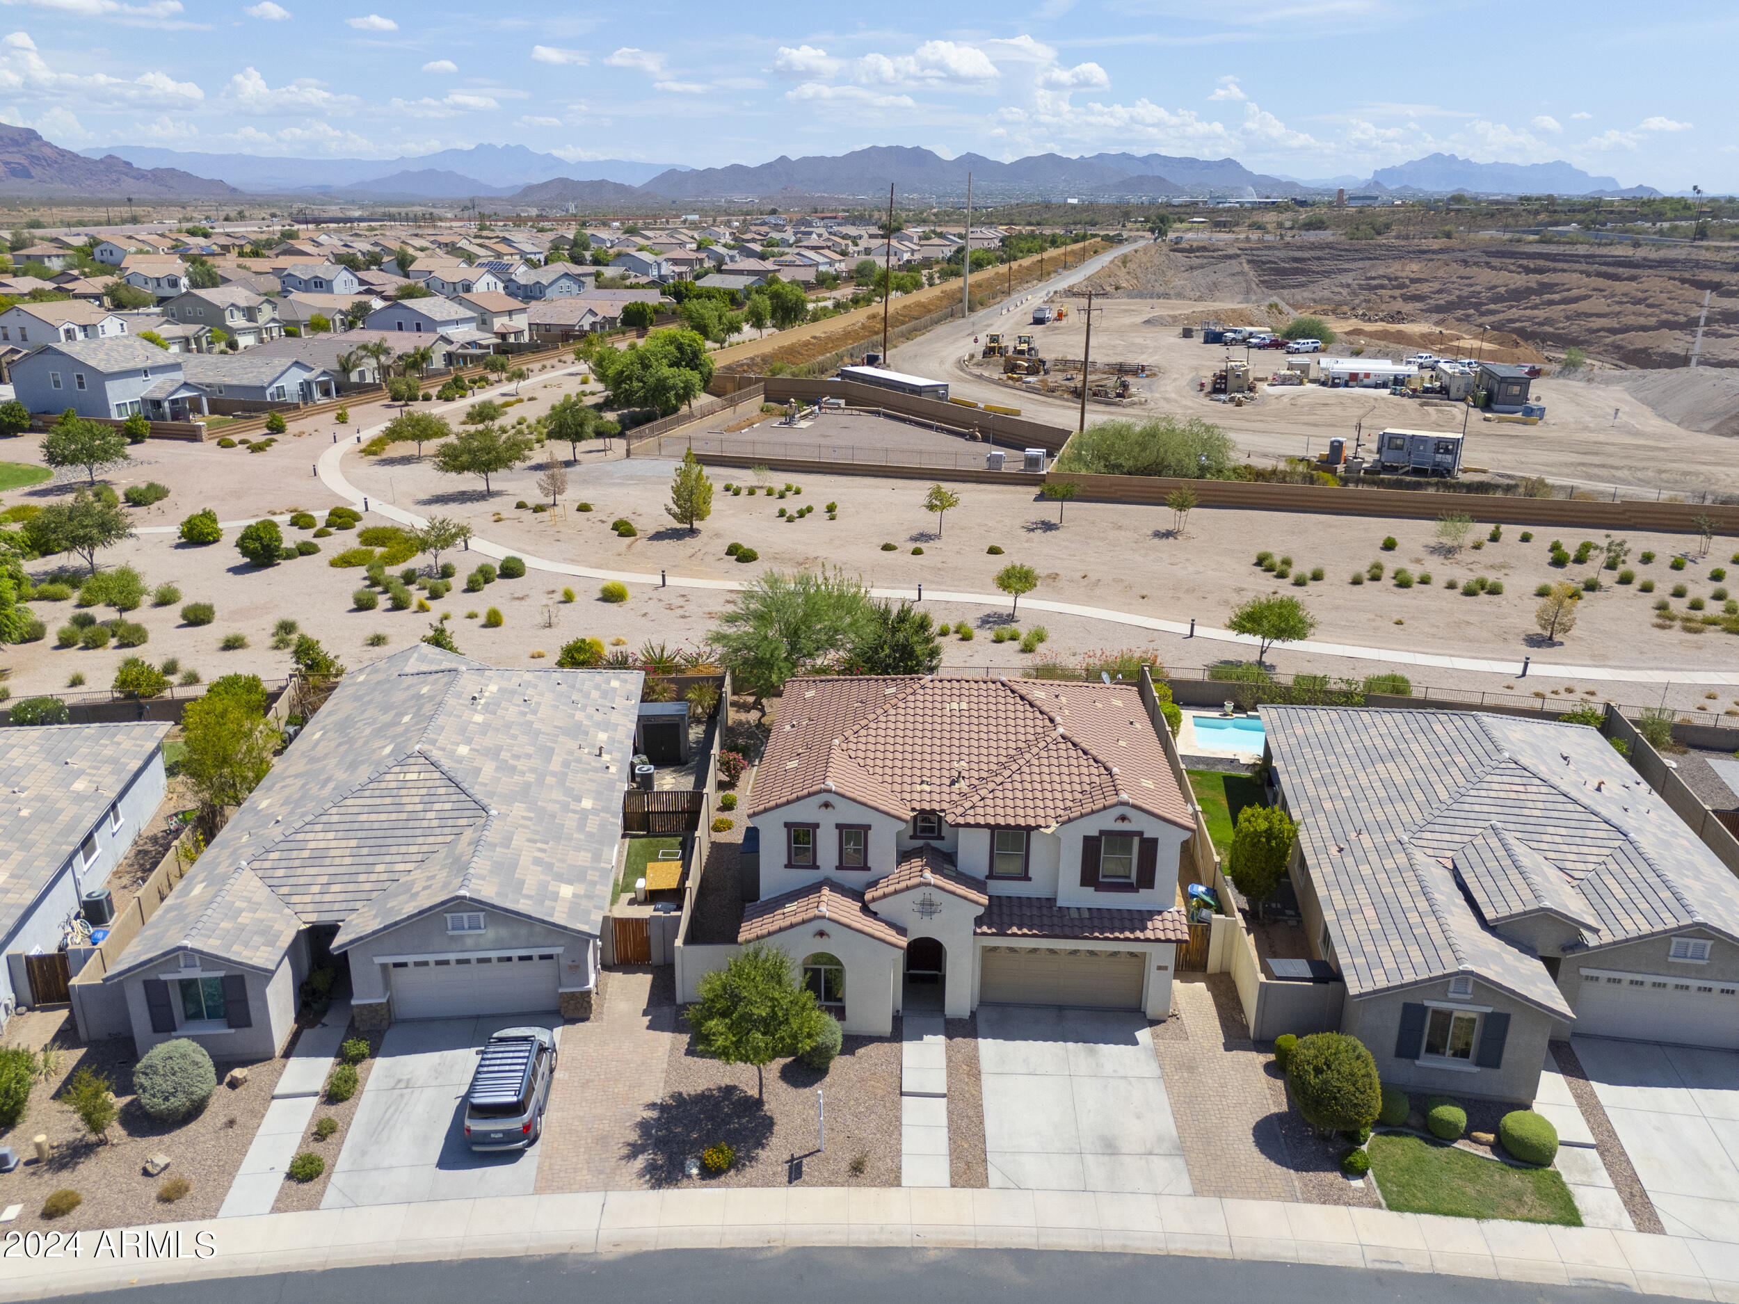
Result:
M165 1125L146 1114L132 1095L132 1041L122 1038L92 1047L78 1045L71 1014L61 1014L66 1022L59 1043L64 1048L56 1071L31 1090L24 1121L0 1132L0 1144L12 1146L24 1156L24 1163L3 1186L5 1203L24 1205L9 1229L78 1231L214 1217L254 1142L285 1061L219 1062L217 1092L205 1111L184 1123ZM10 1028L7 1031L12 1033ZM110 1128L108 1142L92 1141L78 1114L52 1099L83 1068L106 1074L115 1083L120 1116ZM231 1068L249 1069L247 1085L235 1090L223 1085L224 1073ZM33 1158L31 1139L38 1134L49 1137L50 1158L45 1165ZM162 1177L146 1177L143 1165L158 1153L169 1156L170 1167ZM186 1177L193 1189L174 1203L163 1203L157 1191L172 1177ZM45 1221L42 1201L61 1188L78 1191L83 1203L66 1217Z

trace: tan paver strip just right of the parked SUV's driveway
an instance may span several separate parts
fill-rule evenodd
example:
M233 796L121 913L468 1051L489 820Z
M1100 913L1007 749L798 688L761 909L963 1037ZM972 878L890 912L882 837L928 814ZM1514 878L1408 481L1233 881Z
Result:
M643 1189L624 1141L647 1106L664 1097L664 1066L676 1040L675 974L603 972L603 1008L562 1029L562 1061L544 1111L537 1191Z

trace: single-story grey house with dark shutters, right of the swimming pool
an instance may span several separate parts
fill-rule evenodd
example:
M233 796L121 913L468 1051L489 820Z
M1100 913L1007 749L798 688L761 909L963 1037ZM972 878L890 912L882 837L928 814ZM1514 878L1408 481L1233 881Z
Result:
M1596 730L1261 715L1304 941L1384 1081L1532 1101L1569 1031L1739 1050L1739 880Z

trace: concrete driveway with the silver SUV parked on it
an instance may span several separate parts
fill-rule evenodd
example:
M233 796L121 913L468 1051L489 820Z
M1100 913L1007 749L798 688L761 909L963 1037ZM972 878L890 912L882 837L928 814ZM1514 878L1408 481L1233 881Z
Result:
M478 1052L492 1033L530 1026L553 1026L560 1045L560 1021L548 1015L393 1024L320 1207L532 1194L543 1142L499 1154L475 1154L464 1144L464 1092Z

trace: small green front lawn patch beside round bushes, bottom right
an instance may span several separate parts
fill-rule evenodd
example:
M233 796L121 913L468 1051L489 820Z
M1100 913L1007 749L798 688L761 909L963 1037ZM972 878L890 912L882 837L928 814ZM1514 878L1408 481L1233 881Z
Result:
M1384 1132L1370 1139L1370 1172L1384 1203L1402 1214L1582 1226L1570 1188L1551 1168L1511 1168L1440 1141Z

